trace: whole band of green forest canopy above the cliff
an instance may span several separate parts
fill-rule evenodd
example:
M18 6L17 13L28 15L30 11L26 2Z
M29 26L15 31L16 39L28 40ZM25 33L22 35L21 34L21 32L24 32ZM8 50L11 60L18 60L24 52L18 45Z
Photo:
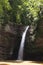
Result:
M43 19L43 0L0 0L0 24L36 24Z

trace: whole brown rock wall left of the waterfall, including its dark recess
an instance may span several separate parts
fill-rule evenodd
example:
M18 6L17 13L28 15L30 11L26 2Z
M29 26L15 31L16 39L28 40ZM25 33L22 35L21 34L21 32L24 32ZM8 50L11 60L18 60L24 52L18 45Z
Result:
M15 60L18 57L23 25L7 24L0 29L0 60Z

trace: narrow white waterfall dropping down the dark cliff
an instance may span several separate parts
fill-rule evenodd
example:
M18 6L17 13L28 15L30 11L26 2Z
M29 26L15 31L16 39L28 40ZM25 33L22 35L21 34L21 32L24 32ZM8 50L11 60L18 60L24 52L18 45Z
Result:
M24 42L25 42L26 32L27 32L28 28L29 28L29 26L26 27L25 31L22 34L22 39L21 39L21 43L20 43L17 60L23 60Z

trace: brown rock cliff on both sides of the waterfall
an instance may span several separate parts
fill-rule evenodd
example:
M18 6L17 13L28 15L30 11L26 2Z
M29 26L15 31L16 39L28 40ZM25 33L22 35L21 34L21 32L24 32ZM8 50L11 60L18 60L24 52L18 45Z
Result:
M25 27L24 25L17 24L7 24L6 26L0 27L0 60L17 59L21 37ZM36 32L33 30L31 34L30 30L32 30L31 27L26 34L24 60L43 60L43 21L38 26L38 36L36 39Z

